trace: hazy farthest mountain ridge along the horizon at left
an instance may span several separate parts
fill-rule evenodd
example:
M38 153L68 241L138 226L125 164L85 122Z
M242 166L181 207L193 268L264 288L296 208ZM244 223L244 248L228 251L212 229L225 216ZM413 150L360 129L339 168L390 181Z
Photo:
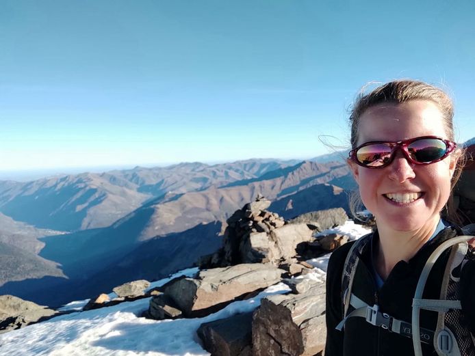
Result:
M0 181L0 212L16 221L54 230L102 228L147 200L258 178L295 161L247 160L219 165L180 163L169 167L76 174L21 183Z

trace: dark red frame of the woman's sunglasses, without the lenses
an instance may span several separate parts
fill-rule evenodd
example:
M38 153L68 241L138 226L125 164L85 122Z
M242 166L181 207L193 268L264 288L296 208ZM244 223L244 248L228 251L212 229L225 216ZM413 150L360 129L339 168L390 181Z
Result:
M407 150L407 146L409 146L411 143L413 143L415 141L418 141L420 139L439 139L440 141L443 141L446 144L446 152L444 153L443 156L441 156L439 159L435 159L434 161L429 161L429 162L415 161L415 160L411 159L411 156L409 154L409 150ZM365 165L364 163L361 163L360 161L358 161L356 152L360 148L363 148L365 146L374 145L374 144L381 144L381 143L386 144L387 146L389 146L389 148L391 148L391 154L389 156L389 161L387 161L383 165L376 165L376 166L374 166L374 165ZM397 141L397 142L391 142L391 141L365 142L365 143L361 144L360 146L358 146L357 148L353 148L348 153L348 156L349 156L349 159L351 161L355 162L357 165L361 165L361 167L370 168L370 169L384 168L384 167L387 167L388 165L390 165L392 161L394 161L394 155L396 153L396 150L397 150L397 148L400 148L402 150L402 153L404 154L405 158L410 163L413 163L415 165L430 165L431 163L439 162L439 161L442 161L443 159L445 159L446 156L448 156L450 153L452 153L453 150L456 147L457 147L457 143L455 143L454 141L450 141L448 139L443 139L443 138L438 137L438 136L420 136L420 137L414 137L412 139L405 139L403 141Z

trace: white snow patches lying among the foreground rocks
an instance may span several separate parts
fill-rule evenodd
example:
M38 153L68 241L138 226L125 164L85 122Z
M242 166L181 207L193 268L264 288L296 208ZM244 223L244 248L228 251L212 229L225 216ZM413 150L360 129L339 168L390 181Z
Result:
M350 236L350 240L370 232L352 221L322 234L337 232ZM305 276L323 282L330 254L307 262L316 268ZM153 282L149 288L166 284L180 275L192 276L197 268L185 269L168 278ZM120 303L87 312L73 312L23 329L0 334L0 355L9 356L205 356L198 342L196 329L209 321L227 318L241 312L251 312L261 299L274 294L283 294L290 288L276 284L259 293L253 299L235 301L224 309L204 318L177 320L150 320L141 318L149 308L150 298ZM110 297L116 297L111 293ZM81 310L88 300L73 301L61 310Z

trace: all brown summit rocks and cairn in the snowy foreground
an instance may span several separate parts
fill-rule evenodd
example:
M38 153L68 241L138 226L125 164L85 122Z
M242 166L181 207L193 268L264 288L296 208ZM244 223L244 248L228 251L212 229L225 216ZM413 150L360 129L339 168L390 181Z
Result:
M154 320L206 318L236 301L253 299L277 284L286 295L269 295L253 312L205 322L196 329L211 355L316 355L324 347L324 279L311 277L305 258L325 254L348 238L321 236L320 227L332 227L344 212L326 210L286 221L268 210L270 201L257 196L227 220L222 247L201 258L201 270L151 288L141 279L94 295L83 311L146 299L142 316ZM345 215L346 216L346 215ZM323 243L322 241L334 241ZM306 277L307 276L307 277ZM283 287L279 287L283 288ZM16 306L12 306L16 305ZM7 312L8 310L8 312ZM3 332L55 316L49 310L15 297L0 299ZM7 321L5 321L7 320Z

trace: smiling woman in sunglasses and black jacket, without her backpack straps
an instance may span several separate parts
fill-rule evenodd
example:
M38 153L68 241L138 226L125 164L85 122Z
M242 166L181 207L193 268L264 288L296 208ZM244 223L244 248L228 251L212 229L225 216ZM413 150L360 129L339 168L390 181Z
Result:
M449 222L456 219L447 206L463 161L454 143L452 117L450 98L419 81L392 81L357 99L350 115L348 163L377 229L365 238L369 242L359 255L351 291L363 305L377 305L391 320L402 320L409 332L383 329L364 317L347 318L342 331L335 329L344 318L342 273L352 245L348 243L333 252L327 271L326 356L414 355L411 304L424 264L441 243L463 234ZM447 220L441 219L443 210ZM447 260L448 252L437 260L424 298L440 299ZM473 261L467 262L461 278L461 323L471 331L474 268ZM436 324L437 312L420 313L422 330L435 330ZM422 344L422 351L437 355L430 342Z

